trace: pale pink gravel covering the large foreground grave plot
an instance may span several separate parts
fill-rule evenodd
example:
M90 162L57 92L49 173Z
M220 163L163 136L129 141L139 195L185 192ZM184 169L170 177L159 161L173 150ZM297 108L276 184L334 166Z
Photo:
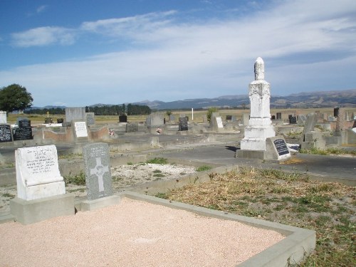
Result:
M124 198L36 224L0 224L0 266L235 266L275 231Z

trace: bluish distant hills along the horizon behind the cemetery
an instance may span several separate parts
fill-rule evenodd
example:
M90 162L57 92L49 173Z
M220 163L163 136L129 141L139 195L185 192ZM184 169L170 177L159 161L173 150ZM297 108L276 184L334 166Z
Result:
M128 103L125 103L127 105ZM147 105L152 110L207 109L219 108L249 108L248 95L223 95L219 98L195 98L164 102L159 100L142 100L131 103ZM110 104L95 104L89 107L103 107ZM271 108L333 108L335 106L356 108L356 89L333 90L319 92L296 93L287 96L271 96ZM44 108L66 108L65 106L46 106ZM32 107L31 109L41 109Z

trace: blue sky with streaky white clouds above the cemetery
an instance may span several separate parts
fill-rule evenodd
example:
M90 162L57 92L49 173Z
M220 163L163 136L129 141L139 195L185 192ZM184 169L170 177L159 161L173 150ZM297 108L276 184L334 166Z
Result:
M0 0L0 88L33 106L356 88L355 0Z

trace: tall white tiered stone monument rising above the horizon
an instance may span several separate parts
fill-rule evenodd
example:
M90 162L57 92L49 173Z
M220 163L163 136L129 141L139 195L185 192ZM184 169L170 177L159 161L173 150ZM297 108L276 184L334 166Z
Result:
M265 78L264 62L257 58L255 62L255 80L248 86L251 112L245 137L241 140L241 150L266 151L266 139L276 136L270 113L270 84Z

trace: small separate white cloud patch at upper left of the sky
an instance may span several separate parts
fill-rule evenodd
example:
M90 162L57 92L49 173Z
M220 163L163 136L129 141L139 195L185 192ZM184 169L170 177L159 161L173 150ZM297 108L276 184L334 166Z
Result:
M48 46L59 43L63 46L71 45L75 42L75 32L68 28L61 27L39 27L32 28L21 33L12 33L14 46Z

